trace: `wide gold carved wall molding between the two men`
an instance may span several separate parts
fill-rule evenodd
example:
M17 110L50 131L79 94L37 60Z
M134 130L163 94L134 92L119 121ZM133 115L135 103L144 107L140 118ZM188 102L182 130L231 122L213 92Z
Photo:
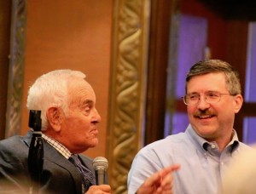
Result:
M115 0L108 118L109 181L127 191L131 162L143 143L149 0Z

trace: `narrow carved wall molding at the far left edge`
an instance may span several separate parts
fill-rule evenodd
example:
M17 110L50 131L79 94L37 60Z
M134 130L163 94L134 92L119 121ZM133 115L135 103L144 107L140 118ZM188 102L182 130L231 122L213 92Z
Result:
M12 1L5 137L20 134L26 40L26 0Z

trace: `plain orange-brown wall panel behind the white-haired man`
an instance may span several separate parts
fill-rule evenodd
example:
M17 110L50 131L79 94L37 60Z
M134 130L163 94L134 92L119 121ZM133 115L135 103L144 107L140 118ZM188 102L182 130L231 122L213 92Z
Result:
M84 71L102 116L100 144L86 154L106 156L112 8L111 0L27 0L22 134L27 130L26 94L32 81L55 69Z

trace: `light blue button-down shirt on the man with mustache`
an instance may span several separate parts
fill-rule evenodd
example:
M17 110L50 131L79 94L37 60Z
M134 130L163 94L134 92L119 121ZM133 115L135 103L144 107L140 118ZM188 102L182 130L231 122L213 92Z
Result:
M225 169L241 151L251 149L238 141L236 131L224 151L208 142L189 125L184 133L146 145L137 153L128 174L128 194L134 194L151 174L179 163L173 174L174 194L215 194L220 190Z

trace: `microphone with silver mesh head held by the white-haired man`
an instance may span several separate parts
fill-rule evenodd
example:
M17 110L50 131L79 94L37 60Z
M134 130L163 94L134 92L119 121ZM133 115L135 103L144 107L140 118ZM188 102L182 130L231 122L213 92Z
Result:
M96 174L96 185L108 184L108 160L105 157L96 157L92 162Z

